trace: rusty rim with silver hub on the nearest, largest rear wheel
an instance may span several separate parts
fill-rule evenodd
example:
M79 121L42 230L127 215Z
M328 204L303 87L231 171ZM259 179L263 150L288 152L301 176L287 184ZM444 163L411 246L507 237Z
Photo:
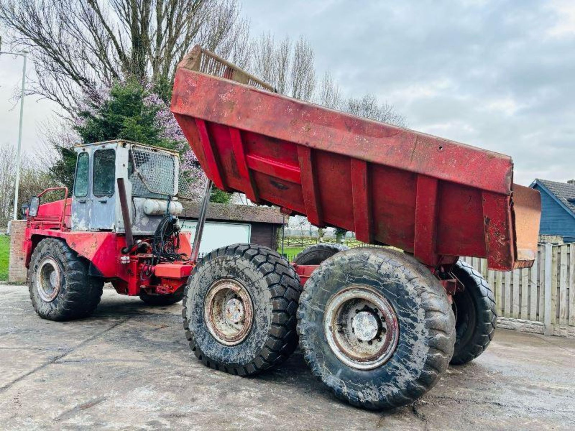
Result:
M392 305L366 286L347 288L330 299L324 329L333 353L358 370L385 364L399 340L399 324Z

